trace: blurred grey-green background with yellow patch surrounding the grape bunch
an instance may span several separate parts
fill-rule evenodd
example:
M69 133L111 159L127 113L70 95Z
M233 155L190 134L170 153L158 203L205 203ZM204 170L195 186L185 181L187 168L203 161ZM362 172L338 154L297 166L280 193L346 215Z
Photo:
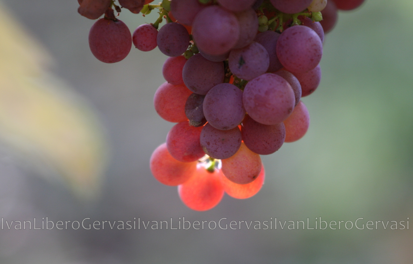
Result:
M104 64L76 0L0 2L0 217L53 221L413 223L413 2L340 12L322 82L303 98L304 138L262 157L266 182L207 212L150 173L173 124L152 105L166 56L133 48ZM143 18L123 10L131 31ZM411 227L413 228L413 225ZM379 224L380 226L380 224ZM412 229L411 228L411 229ZM411 230L0 230L5 264L411 264Z

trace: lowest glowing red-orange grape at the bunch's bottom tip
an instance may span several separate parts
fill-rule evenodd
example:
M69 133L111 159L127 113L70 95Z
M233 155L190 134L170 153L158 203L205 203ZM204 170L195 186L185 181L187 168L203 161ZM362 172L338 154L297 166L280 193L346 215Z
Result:
M179 197L192 210L207 211L214 208L224 196L221 172L209 172L198 165L188 181L178 186Z

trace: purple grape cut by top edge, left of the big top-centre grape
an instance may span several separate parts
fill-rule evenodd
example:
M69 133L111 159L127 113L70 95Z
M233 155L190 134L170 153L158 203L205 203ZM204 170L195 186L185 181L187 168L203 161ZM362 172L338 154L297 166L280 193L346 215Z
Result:
M195 16L204 8L198 0L172 0L171 12L179 23L191 26Z

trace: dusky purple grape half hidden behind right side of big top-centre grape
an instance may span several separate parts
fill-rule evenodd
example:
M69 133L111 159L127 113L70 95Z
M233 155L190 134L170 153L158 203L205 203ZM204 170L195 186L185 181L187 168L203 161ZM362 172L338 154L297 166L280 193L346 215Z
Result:
M240 38L233 49L244 48L252 43L258 32L258 17L252 8L235 13L240 24Z

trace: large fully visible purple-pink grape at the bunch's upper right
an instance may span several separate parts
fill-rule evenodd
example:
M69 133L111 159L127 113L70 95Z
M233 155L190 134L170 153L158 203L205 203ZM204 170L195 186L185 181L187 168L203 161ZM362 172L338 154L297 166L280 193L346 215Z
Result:
M278 59L293 73L311 71L320 63L322 55L323 43L308 26L292 26L278 38Z

